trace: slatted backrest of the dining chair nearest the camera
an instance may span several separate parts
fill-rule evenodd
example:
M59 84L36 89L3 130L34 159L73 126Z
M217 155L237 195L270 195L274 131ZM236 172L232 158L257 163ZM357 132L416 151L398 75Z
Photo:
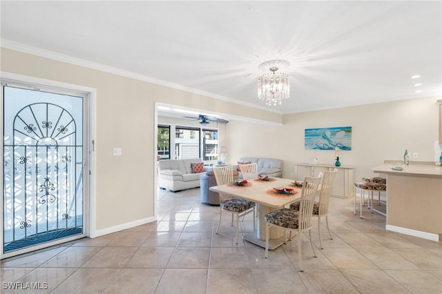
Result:
M323 177L305 177L302 185L301 200L299 204L298 228L308 230L311 228L311 215L319 183Z

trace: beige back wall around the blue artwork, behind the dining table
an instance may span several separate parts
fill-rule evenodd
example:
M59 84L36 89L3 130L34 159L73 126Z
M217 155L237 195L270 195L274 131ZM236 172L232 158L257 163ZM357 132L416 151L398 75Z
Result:
M293 97L291 99L296 99ZM334 164L334 150L306 150L305 128L352 126L352 150L340 151L343 166L354 166L355 179L374 175L370 168L384 159L401 159L405 149L418 153L410 160L433 161L438 139L437 97L368 104L331 110L284 115L283 126L244 122L227 124L228 160L242 156L276 157L284 160L284 177L294 177L294 164L318 157ZM230 148L230 146L235 146Z

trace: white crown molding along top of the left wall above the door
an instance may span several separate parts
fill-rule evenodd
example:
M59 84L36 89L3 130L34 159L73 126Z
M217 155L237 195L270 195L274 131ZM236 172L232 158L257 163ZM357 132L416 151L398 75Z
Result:
M211 98L215 98L215 99L220 99L220 100L224 100L224 101L229 101L231 103L234 104L240 104L243 106L248 106L251 108L256 108L256 109L261 109L261 110L267 110L269 112L275 112L278 113L280 115L282 115L283 113L277 110L274 110L273 108L268 108L267 106L260 106L260 105L256 105L256 104L251 104L251 103L246 103L243 101L239 101L230 97L225 97L222 95L218 95L218 94L214 94L211 92L206 92L203 90L198 90L195 88L190 88L190 87L186 87L186 86L182 86L180 84L175 84L175 83L171 83L170 81L164 81L162 79L154 79L153 77L147 77L145 75L140 75L137 74L135 72L130 72L128 70L122 70L119 68L113 68L112 66L104 66L103 64L100 63L95 63L92 61L87 61L84 59L79 59L79 58L75 58L75 57L70 57L68 55L63 55L57 52L53 52L50 50L44 50L41 48L37 48L37 47L32 47L32 46L28 46L22 43L17 43L14 41L10 41L7 39L0 39L0 45L3 48L7 48L10 50L16 50L19 52L24 52L24 53L28 53L31 55L36 55L39 57L45 57L48 59L54 59L57 61L62 61L62 62L66 62L66 63L71 63L71 64L75 64L76 66L84 66L85 68L91 68L94 70L100 70L102 72L109 72L112 73L114 75L119 75L122 77L129 77L131 79L137 79L140 81L146 81L148 83L152 83L152 84L157 84L157 85L161 85L161 86L166 86L169 88L174 88L177 90L183 90L186 92L191 92L194 94L198 94L198 95L202 95L202 96L206 96L206 97L211 97Z

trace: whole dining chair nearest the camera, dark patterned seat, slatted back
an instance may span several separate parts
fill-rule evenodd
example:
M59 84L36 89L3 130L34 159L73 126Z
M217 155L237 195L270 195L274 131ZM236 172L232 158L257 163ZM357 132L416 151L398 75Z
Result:
M309 239L314 257L316 257L313 242L311 242L311 215L313 214L313 206L318 191L318 186L322 177L305 177L301 190L301 198L299 210L290 208L282 208L272 211L265 215L265 258L269 257L269 237L270 228L275 226L284 229L284 243L287 244L285 237L286 231L298 235L298 260L300 271L304 271L302 264L302 232L309 231Z

